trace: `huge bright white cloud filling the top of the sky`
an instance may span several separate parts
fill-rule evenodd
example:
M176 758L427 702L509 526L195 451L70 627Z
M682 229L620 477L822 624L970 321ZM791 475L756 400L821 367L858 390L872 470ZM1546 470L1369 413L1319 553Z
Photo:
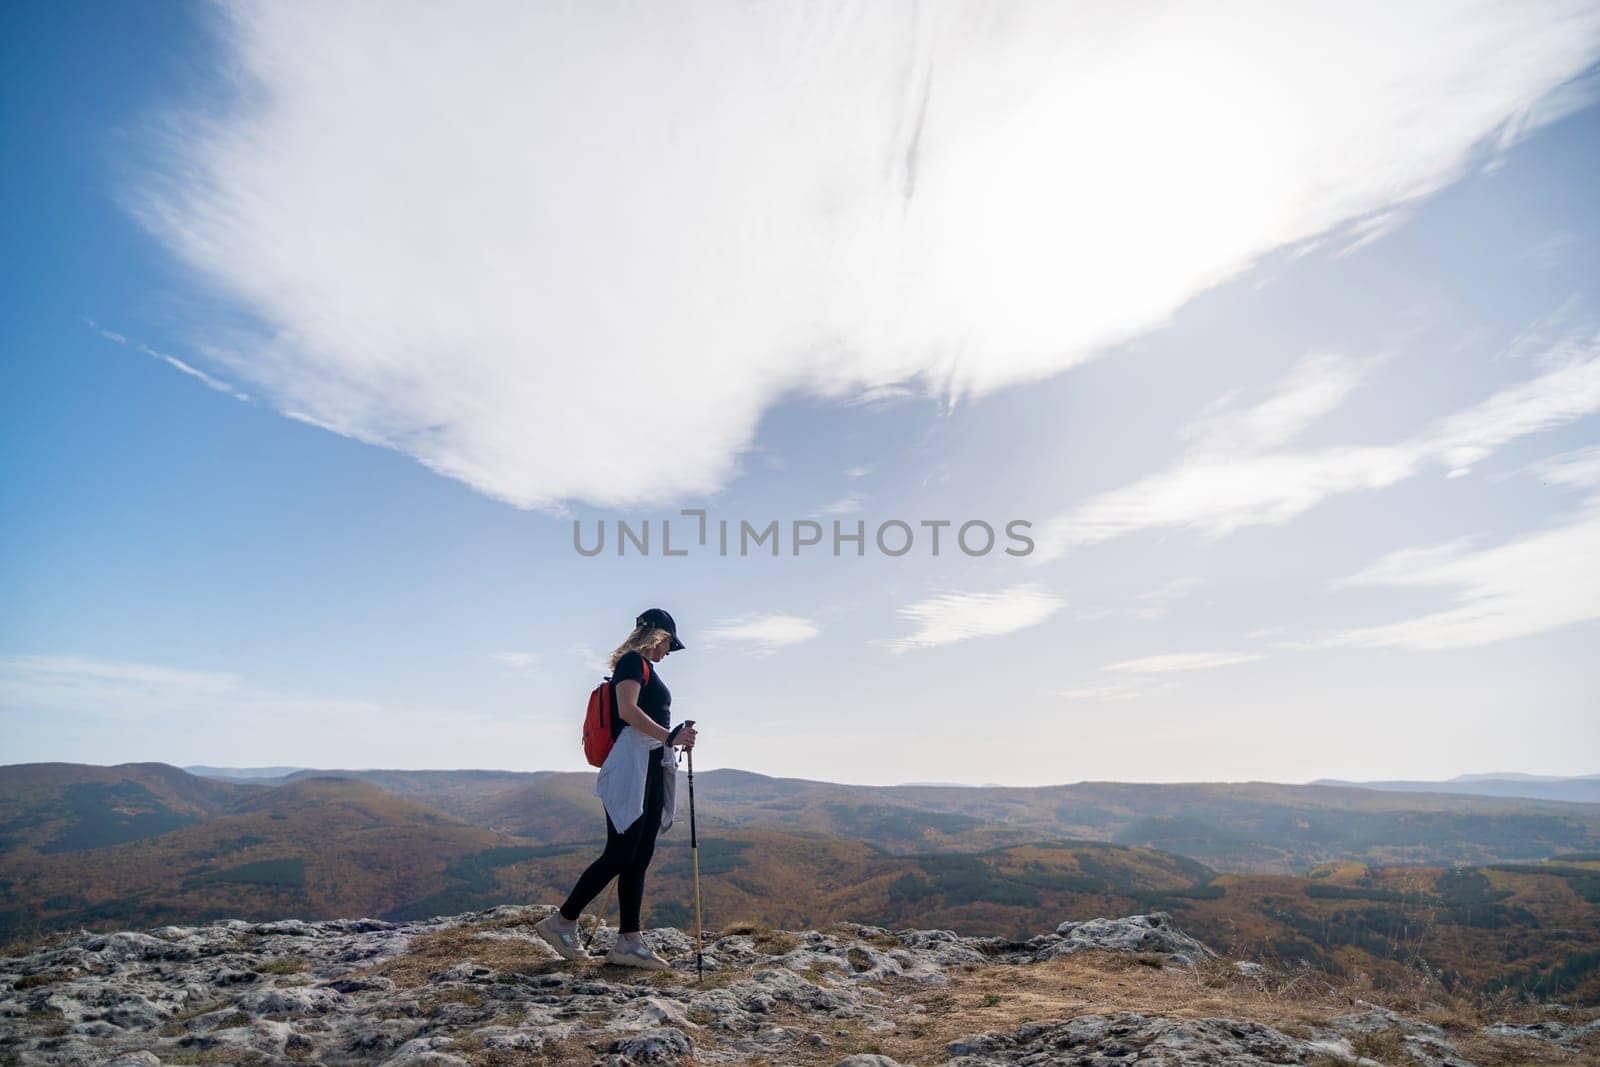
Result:
M259 325L211 358L552 510L712 493L786 394L1082 362L1371 232L1560 114L1600 42L1579 0L227 11L237 102L174 117L130 195ZM595 432L597 397L672 448Z

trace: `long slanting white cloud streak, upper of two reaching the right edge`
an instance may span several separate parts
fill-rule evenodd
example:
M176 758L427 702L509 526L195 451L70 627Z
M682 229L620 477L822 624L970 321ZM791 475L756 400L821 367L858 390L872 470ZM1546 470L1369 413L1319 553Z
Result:
M1554 370L1394 445L1229 453L1219 446L1219 434L1206 429L1219 418L1208 413L1198 429L1187 432L1203 446L1160 474L1091 496L1046 520L1027 561L1045 563L1074 547L1141 530L1187 528L1222 537L1245 526L1286 523L1330 496L1389 488L1429 464L1459 472L1518 437L1600 411L1600 339L1586 334L1582 344L1563 342L1560 350L1562 363ZM1338 381L1318 389L1310 381L1315 374ZM1240 422L1254 429L1234 443L1286 440L1306 419L1347 395L1352 384L1347 365L1302 363L1274 398L1242 414ZM1298 400L1285 403L1290 397Z

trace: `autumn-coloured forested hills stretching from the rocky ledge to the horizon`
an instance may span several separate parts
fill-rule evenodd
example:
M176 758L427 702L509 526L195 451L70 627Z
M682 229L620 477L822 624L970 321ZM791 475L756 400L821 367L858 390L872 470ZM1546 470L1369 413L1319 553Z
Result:
M0 768L0 937L555 902L594 776ZM858 787L696 774L706 921L994 936L1170 910L1242 955L1600 997L1600 806L1352 787ZM646 923L691 923L686 790ZM1469 865L1461 865L1462 862ZM614 905L613 905L614 910Z

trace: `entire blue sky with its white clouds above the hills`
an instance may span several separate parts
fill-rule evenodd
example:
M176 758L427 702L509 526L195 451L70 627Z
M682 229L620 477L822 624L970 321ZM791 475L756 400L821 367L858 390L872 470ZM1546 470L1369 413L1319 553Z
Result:
M1597 769L1592 5L594 11L8 8L5 761Z

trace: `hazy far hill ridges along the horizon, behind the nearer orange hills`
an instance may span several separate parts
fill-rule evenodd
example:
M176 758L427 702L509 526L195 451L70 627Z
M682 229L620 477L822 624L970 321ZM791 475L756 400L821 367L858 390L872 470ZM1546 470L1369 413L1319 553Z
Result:
M582 771L298 771L259 784L328 774L546 845L603 827L595 776ZM707 832L848 838L896 856L1078 840L1158 848L1221 872L1306 873L1341 859L1458 865L1600 849L1600 805L1354 785L840 785L715 769L696 774L696 800Z

